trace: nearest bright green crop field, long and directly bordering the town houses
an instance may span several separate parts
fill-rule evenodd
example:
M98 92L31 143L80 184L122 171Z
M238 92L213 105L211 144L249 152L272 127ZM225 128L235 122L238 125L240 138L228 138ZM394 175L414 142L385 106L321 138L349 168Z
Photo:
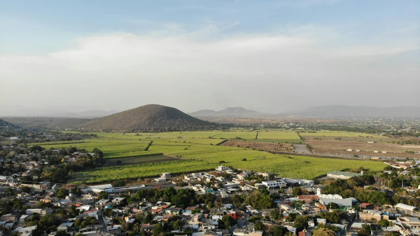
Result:
M270 154L242 148L209 146L208 148L194 145L189 150L181 150L172 155L181 155L181 161L147 163L124 167L104 167L90 171L76 172L72 175L75 183L105 183L118 179L139 179L156 176L162 172L187 173L205 171L219 166L219 161L225 161L225 166L244 170L268 171L283 177L314 179L332 170L365 169L378 171L386 164L373 161L341 160L304 156L287 156ZM211 148L216 148L211 150ZM247 161L242 161L245 158Z

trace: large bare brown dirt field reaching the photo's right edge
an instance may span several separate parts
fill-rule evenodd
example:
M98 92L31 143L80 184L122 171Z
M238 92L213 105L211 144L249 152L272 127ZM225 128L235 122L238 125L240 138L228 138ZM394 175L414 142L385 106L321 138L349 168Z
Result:
M337 140L306 140L306 143L313 148L314 152L320 153L420 158L419 154L404 153L406 150L420 151L420 148L415 148L413 145L350 142ZM347 151L347 149L352 149L352 151ZM356 149L360 150L360 152L356 152ZM378 151L378 153L375 153L374 151ZM386 151L387 153L382 153L382 151Z

